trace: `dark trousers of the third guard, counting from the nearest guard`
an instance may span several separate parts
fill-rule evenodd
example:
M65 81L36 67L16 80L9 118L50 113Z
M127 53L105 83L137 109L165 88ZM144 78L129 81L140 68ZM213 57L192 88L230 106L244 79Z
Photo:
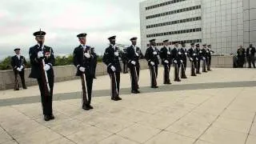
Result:
M120 72L110 72L111 98L119 97Z

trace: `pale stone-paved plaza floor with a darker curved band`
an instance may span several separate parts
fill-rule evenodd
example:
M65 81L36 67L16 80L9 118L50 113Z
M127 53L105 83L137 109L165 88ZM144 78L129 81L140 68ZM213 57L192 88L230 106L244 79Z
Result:
M173 71L173 70L172 70ZM0 91L0 143L50 144L255 144L256 70L214 68L198 77L130 94L121 75L122 101L110 101L110 78L94 81L94 110L81 108L80 80L54 85L54 121L44 122L38 86Z

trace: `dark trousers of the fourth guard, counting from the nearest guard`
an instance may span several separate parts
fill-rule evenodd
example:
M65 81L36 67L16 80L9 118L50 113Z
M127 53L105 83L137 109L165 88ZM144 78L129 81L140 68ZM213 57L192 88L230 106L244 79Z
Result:
M130 68L130 81L131 81L131 90L138 90L138 77L140 66L129 66Z

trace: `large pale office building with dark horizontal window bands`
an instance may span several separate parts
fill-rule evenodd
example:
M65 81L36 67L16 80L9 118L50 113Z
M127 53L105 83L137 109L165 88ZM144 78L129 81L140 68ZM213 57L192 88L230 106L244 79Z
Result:
M141 44L149 40L207 43L220 54L256 45L255 0L146 0L140 3Z

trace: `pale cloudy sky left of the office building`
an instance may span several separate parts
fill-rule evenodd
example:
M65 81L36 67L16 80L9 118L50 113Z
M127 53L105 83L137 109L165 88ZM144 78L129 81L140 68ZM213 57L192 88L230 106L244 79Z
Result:
M71 54L78 46L76 35L86 32L87 44L102 54L107 38L130 44L139 38L139 2L143 0L3 0L0 5L0 58L14 54L15 47L27 55L36 44L34 31L46 31L46 45L56 55ZM139 39L138 39L139 40Z

